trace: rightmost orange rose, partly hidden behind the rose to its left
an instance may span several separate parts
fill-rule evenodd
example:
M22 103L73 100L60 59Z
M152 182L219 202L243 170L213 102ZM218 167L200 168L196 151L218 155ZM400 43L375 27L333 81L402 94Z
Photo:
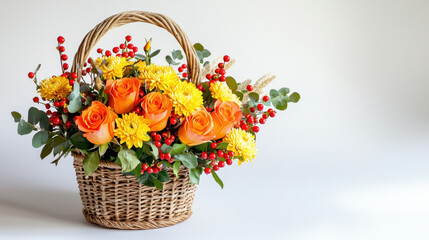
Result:
M231 131L234 124L243 117L240 106L235 102L222 102L216 100L214 111L210 114L213 118L215 138L223 138Z

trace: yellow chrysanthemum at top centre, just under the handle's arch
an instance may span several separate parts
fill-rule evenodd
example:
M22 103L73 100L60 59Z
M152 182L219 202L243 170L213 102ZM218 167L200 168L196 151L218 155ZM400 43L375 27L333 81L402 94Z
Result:
M150 91L153 89L167 91L180 81L172 67L154 64L147 66L145 62L138 62L135 66L140 72L139 79L142 86L146 86Z

